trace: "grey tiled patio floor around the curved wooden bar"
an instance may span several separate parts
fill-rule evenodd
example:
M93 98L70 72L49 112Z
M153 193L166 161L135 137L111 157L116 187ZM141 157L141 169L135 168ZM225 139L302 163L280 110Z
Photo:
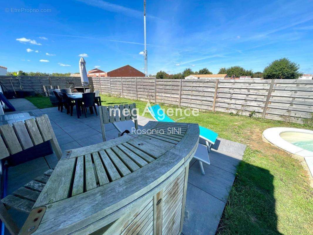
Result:
M59 112L57 107L35 108L32 109L32 112L36 115L46 113L49 116L63 151L102 142L100 118L95 114L87 114L87 118L77 118L74 110L71 117L66 114L66 111ZM151 120L141 116L138 119L140 127ZM128 124L132 123L128 122ZM107 140L117 137L118 132L112 124L106 124L105 131ZM242 159L245 145L218 139L213 148L215 149L212 149L209 155L211 165L203 165L205 175L201 174L198 161L193 159L190 162L184 235L215 234L229 190L233 185L236 166ZM23 186L49 168L53 168L56 164L57 158L55 154L51 154L11 167L8 171L8 193ZM22 212L10 210L10 213L19 226L22 226L27 218L27 214Z

